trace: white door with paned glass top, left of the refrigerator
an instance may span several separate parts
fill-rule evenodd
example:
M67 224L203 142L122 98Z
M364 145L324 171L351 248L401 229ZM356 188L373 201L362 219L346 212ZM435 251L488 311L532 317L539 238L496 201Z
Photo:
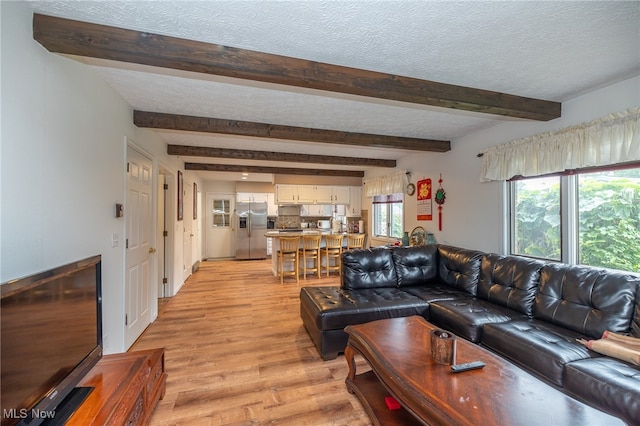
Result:
M235 195L207 192L205 220L206 257L221 259L235 256Z

